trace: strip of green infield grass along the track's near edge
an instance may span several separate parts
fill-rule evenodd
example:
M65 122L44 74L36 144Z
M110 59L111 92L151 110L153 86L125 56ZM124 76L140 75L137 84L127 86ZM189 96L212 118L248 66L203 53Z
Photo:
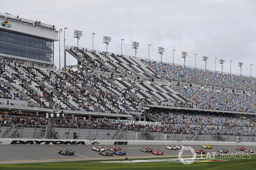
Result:
M184 165L181 162L139 162L139 163L100 163L101 161L122 161L124 159L113 160L85 160L85 161L63 161L63 162L41 162L41 163L22 163L22 164L0 164L1 170L62 170L62 169L92 169L92 170L111 170L111 169L182 169L182 170L199 170L199 169L256 169L256 155L250 155L244 159L226 159L227 161L213 161L213 162L193 162L190 165ZM237 156L239 158L239 156ZM250 158L250 159L248 159ZM152 158L151 158L152 159ZM153 158L155 159L155 158ZM159 159L173 159L173 158L159 158ZM221 158L222 159L222 158ZM128 159L128 160L145 160L145 159ZM148 160L148 159L147 159Z

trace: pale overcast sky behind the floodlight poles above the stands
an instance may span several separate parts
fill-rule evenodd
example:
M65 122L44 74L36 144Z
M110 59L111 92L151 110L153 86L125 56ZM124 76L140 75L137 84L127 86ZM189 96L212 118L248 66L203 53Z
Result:
M219 59L225 60L223 72L256 76L256 1L255 0L8 0L1 2L1 12L22 18L67 27L66 45L76 46L74 30L83 32L79 47L106 51L103 36L112 38L108 52L135 55L132 41L140 43L137 57L161 60L158 47L165 48L164 62L184 64L181 52L188 53L186 65L205 68L203 55L209 57L206 68L221 71ZM63 31L60 33L63 66ZM59 66L59 42L54 43L54 61ZM67 65L76 64L67 55Z

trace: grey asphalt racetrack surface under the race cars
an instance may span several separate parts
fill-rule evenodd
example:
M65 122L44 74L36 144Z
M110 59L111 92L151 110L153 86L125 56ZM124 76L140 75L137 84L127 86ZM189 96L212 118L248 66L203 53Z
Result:
M172 144L170 144L172 145ZM13 163L35 163L35 162L54 162L54 161L77 161L77 160L106 160L106 159L136 159L136 158L166 158L166 157L178 157L180 150L169 150L166 149L166 145L119 145L122 147L124 151L127 151L127 154L124 156L102 156L99 152L92 151L93 146L99 145L51 145L51 144L40 144L40 145L0 145L0 164L13 164ZM104 147L112 147L113 145L106 145ZM201 145L187 145L192 147L194 150L203 149ZM162 150L164 151L164 155L153 155L151 153L141 152L140 148L150 147L154 150ZM215 157L218 157L219 149L225 148L229 150L229 154L238 152L238 154L244 154L243 151L236 150L238 146L227 146L227 145L212 145L212 149L204 149L213 157L212 152L216 152ZM240 146L239 146L240 147ZM256 146L244 146L247 149L252 149L256 152ZM64 156L58 154L59 150L61 149L71 149L75 151L75 155L73 156ZM240 153L239 153L240 152ZM256 154L256 153L250 153ZM182 154L183 157L185 156L193 156L191 151L184 151ZM197 157L200 157L197 154Z

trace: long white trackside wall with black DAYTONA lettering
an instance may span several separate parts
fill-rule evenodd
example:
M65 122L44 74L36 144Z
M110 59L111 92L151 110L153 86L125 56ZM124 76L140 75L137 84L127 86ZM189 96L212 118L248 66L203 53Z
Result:
M252 142L213 142L213 141L134 141L134 140L60 140L60 139L4 139L0 138L0 145L4 144L61 144L61 145L67 145L67 144L74 144L74 145L94 145L94 146L100 146L100 145L230 145L230 146L256 146L256 143Z

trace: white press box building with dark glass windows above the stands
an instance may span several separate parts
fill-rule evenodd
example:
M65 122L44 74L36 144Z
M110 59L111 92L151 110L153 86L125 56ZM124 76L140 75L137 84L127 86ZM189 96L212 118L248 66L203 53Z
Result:
M54 25L0 12L0 57L28 64L54 67Z

